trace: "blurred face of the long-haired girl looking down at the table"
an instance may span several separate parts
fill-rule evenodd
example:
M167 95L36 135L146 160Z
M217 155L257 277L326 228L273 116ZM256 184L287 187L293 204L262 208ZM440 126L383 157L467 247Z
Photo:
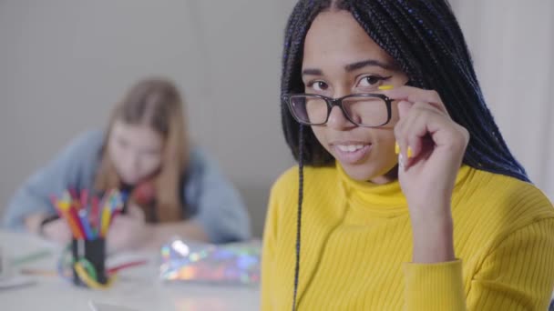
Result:
M108 137L108 155L128 185L136 185L159 170L162 148L163 137L148 125L116 121Z

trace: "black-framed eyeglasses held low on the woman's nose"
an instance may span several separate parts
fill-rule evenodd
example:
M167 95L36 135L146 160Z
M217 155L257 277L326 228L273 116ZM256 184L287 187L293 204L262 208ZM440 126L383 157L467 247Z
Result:
M303 125L324 125L333 106L341 108L346 119L354 125L379 127L391 121L392 99L383 94L353 94L331 98L315 94L285 95L292 116Z

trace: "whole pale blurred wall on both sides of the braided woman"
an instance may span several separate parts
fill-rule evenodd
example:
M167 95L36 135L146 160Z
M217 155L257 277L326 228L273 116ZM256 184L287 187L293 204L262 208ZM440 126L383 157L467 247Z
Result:
M174 80L190 134L240 189L261 236L282 137L282 30L294 0L0 0L0 214L77 134L103 128L128 87ZM451 1L487 103L554 199L554 1Z

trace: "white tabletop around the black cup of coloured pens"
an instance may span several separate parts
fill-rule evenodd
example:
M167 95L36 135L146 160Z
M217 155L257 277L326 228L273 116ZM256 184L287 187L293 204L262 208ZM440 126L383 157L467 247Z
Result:
M60 251L58 246L37 237L2 231L0 246L10 256L23 256L49 247L52 256L20 266L36 269L54 270ZM248 311L260 308L257 287L162 283L157 279L157 254L130 256L148 257L149 264L121 271L114 286L108 290L78 288L57 276L32 276L36 279L35 285L0 289L0 310L89 311L89 300L137 310Z

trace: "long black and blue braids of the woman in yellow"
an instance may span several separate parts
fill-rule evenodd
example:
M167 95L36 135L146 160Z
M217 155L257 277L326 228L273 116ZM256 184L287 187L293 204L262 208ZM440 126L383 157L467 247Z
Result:
M408 76L410 85L436 90L452 119L469 131L464 164L529 181L485 104L466 40L446 0L300 0L286 25L281 79L282 129L300 170L299 231L303 166L333 165L334 158L311 130L302 130L293 119L284 95L303 93L304 39L315 16L329 9L349 11L367 35L395 59ZM293 310L298 286L300 233L297 239Z

